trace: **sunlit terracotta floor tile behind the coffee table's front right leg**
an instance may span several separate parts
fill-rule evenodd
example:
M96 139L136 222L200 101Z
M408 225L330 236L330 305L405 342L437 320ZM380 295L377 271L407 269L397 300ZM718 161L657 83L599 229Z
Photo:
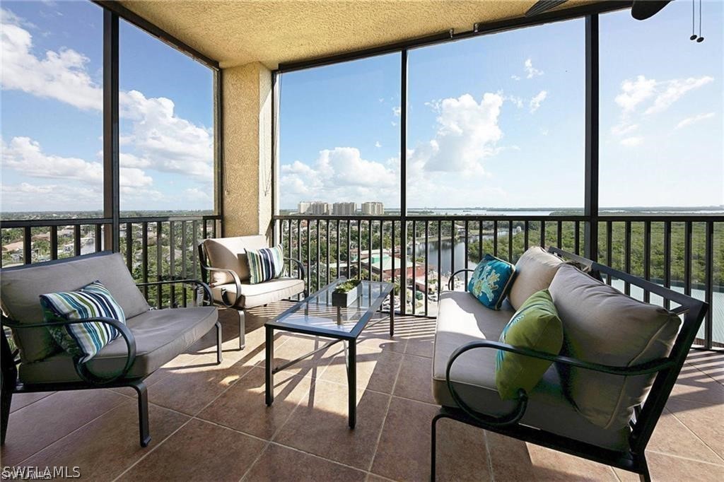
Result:
M337 355L334 355L332 362L327 365L327 369L321 373L319 378L346 385L347 365L345 359L345 352L338 349ZM391 394L402 359L403 355L392 350L358 344L357 388Z

